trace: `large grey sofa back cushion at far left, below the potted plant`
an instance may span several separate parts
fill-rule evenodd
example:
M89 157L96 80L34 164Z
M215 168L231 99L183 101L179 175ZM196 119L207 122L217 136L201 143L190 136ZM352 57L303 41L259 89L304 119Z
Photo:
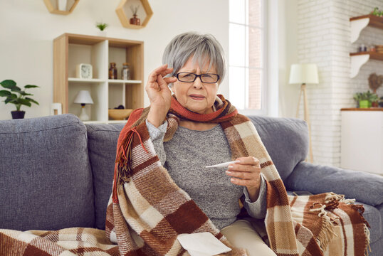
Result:
M0 121L0 142L0 228L93 227L87 135L78 117Z

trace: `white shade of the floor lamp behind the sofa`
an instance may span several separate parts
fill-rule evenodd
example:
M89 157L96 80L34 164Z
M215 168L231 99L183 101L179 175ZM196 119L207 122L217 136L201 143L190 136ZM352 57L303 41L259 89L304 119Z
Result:
M290 68L290 84L318 84L318 68L315 64L293 64Z

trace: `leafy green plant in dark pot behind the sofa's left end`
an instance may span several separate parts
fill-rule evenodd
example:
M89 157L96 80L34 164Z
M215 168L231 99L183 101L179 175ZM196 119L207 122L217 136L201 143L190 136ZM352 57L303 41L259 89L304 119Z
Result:
M36 100L33 100L31 93L26 93L26 89L36 88L37 85L25 85L24 90L21 90L20 87L16 86L14 80L4 80L0 82L0 85L8 90L0 90L0 97L6 97L4 100L5 104L12 103L16 106L16 111L11 111L12 119L21 119L24 118L25 111L21 111L21 105L26 105L31 107L32 103L37 104Z

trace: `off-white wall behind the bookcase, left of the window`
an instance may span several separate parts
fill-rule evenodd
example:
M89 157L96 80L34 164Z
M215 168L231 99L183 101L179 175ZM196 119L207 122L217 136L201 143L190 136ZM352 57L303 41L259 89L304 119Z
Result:
M229 49L229 0L149 0L154 12L146 28L123 28L115 8L120 0L81 0L68 16L50 14L43 0L0 1L0 80L15 80L21 87L31 84L33 99L40 105L21 107L26 118L50 114L53 102L53 39L63 33L98 36L95 23L110 24L107 36L145 42L145 84L149 73L162 63L162 53L179 33L211 33ZM203 8L201 8L203 6ZM229 79L222 82L219 93L228 95ZM11 119L14 105L4 105L0 98L0 119ZM145 106L149 100L145 93Z

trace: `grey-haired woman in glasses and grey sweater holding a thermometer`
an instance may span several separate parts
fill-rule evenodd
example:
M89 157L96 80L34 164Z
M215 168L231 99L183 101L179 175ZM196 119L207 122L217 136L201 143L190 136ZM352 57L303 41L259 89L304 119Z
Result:
M164 168L232 244L248 248L249 255L274 255L248 221L237 220L241 196L248 215L265 218L266 183L258 159L240 157L227 168L206 169L231 161L229 142L218 123L181 118L172 139L164 142L172 97L190 112L216 111L217 91L226 73L220 43L211 35L183 33L169 43L162 61L147 81L146 124Z

